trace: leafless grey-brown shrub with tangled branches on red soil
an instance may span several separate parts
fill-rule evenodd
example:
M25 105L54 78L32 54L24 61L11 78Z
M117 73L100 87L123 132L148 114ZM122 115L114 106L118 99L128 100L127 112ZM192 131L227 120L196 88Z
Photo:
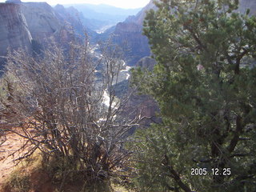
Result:
M61 170L62 184L70 177L95 183L117 176L130 155L122 146L138 118L124 117L129 96L114 92L122 54L110 42L101 50L95 58L88 42L72 42L68 51L52 43L43 56L17 51L7 58L2 115L28 139L23 158L41 150L58 162L54 173Z

